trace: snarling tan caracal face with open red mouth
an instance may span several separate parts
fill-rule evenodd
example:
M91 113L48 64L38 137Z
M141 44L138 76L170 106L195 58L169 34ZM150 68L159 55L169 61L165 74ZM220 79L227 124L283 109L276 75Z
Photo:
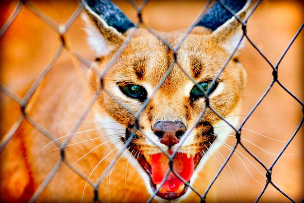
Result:
M236 133L246 82L236 54L229 60L242 34L236 19L214 32L194 27L185 38L186 31L156 37L142 28L122 35L90 9L88 16L89 43L97 51L89 73L92 92L100 91L97 121L134 155L150 194L185 198L210 154Z

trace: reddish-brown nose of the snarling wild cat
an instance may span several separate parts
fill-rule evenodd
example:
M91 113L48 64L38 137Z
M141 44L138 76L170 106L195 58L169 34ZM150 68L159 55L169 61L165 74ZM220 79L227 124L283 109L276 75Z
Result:
M159 137L160 143L171 148L179 143L186 126L180 121L158 121L153 125L152 130Z

